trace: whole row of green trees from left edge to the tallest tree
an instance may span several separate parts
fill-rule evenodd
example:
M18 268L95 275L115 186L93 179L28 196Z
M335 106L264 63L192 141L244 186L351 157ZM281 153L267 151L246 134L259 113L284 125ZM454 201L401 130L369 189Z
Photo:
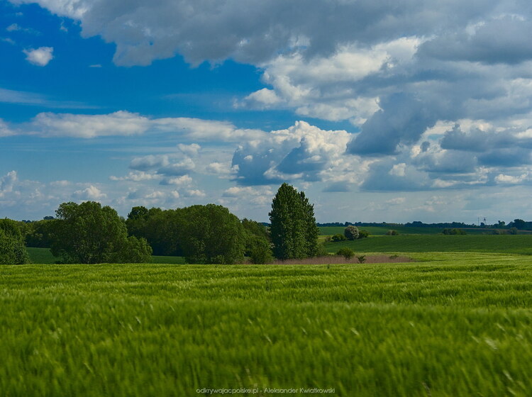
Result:
M136 206L126 219L94 201L62 203L55 218L0 220L0 263L28 262L25 249L49 247L58 263L145 263L151 255L188 263L255 264L303 259L321 252L314 206L303 191L282 184L272 201L270 228L238 219L216 204L163 210Z

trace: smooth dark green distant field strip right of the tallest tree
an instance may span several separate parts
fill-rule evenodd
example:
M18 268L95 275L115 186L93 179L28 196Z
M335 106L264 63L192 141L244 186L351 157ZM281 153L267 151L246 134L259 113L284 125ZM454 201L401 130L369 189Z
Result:
M328 252L506 252L532 255L532 235L398 235L331 242Z

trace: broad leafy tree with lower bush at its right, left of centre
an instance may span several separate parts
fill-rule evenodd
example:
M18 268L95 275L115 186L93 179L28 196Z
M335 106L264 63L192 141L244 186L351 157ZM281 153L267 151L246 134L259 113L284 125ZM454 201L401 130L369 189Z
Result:
M62 203L55 211L52 254L62 263L150 262L151 247L128 237L126 223L100 203Z

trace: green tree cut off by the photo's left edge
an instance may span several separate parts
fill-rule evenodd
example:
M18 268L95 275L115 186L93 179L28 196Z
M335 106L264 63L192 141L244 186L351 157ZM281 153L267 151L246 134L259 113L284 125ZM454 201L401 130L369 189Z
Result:
M29 262L24 237L16 221L0 219L0 264Z

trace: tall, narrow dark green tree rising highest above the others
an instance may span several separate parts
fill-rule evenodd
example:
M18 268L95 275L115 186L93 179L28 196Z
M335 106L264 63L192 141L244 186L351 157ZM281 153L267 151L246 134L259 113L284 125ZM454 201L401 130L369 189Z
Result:
M272 201L270 235L279 259L302 259L318 252L314 206L289 184L282 184Z

